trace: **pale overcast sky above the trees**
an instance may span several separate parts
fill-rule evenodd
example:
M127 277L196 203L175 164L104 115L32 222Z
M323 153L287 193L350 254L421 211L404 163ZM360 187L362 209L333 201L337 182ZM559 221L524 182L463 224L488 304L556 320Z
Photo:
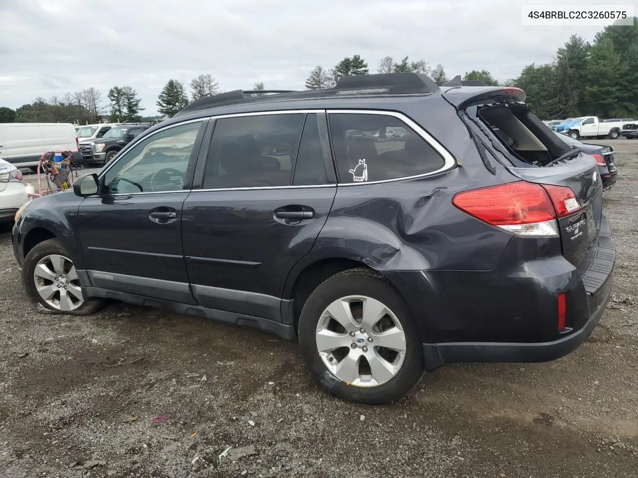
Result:
M211 73L225 91L302 89L317 64L359 54L443 64L450 78L498 80L551 62L571 34L601 27L523 27L519 0L0 0L0 106L130 85L156 114L169 78ZM606 4L605 0L562 4ZM633 1L618 3L635 4ZM106 103L106 101L105 101Z

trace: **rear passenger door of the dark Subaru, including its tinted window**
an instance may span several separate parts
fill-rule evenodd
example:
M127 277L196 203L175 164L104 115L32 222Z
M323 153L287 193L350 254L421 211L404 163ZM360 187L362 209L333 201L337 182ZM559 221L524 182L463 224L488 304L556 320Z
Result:
M197 170L182 210L193 294L204 307L280 321L286 276L336 194L325 113L217 119Z

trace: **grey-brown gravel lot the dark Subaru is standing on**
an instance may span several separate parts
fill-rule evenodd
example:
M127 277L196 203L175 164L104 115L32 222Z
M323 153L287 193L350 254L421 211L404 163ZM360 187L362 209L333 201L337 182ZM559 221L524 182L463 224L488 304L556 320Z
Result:
M638 476L638 141L600 142L618 259L593 335L552 363L445 366L385 407L323 393L259 331L120 303L40 314L1 234L0 475Z

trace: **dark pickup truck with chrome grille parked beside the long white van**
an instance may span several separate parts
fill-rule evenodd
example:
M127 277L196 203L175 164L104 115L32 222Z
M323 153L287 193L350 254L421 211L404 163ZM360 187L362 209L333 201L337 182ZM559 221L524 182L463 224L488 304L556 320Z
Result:
M124 123L110 128L103 136L91 141L80 141L82 163L107 164L117 152L144 133L154 123Z

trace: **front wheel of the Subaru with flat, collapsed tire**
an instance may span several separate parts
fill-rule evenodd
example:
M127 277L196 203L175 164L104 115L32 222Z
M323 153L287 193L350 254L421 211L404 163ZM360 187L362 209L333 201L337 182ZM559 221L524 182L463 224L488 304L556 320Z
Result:
M88 315L104 306L101 299L85 299L77 272L57 239L29 250L22 264L22 284L35 303L59 314Z

